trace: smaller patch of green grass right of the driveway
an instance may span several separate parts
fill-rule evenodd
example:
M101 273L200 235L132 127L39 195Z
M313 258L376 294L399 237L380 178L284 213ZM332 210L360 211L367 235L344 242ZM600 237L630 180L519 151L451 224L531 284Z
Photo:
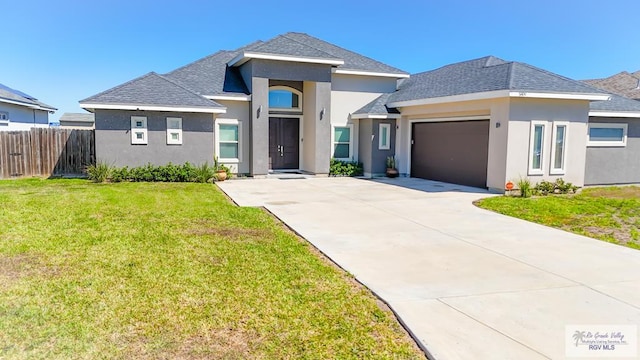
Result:
M481 208L640 249L640 187L585 189L577 195L492 197Z

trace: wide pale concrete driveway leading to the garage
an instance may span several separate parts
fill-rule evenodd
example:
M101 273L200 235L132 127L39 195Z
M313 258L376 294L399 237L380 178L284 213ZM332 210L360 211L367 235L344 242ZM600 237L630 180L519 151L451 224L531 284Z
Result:
M640 324L640 251L481 210L420 179L218 183L383 298L435 359L562 359L565 326ZM640 353L638 353L640 354Z

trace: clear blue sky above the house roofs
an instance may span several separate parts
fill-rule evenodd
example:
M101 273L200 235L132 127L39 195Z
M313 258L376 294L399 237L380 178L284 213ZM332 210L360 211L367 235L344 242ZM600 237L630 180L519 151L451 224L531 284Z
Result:
M0 83L63 112L149 71L306 32L411 73L495 55L575 79L640 70L640 1L0 0Z

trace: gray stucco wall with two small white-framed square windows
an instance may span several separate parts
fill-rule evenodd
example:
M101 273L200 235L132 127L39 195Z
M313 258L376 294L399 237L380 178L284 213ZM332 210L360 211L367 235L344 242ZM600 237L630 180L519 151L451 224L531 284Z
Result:
M131 116L147 117L147 145L131 144ZM182 118L182 145L167 145L167 117ZM96 110L96 157L114 166L213 162L213 114Z

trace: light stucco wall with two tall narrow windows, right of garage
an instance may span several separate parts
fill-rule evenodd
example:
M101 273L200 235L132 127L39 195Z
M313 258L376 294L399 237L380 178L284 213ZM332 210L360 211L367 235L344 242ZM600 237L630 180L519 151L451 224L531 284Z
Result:
M583 100L511 99L506 180L529 178L532 183L563 178L584 185L586 133L589 102ZM542 174L529 173L531 122L545 122ZM554 121L568 122L565 173L551 174L552 131Z

